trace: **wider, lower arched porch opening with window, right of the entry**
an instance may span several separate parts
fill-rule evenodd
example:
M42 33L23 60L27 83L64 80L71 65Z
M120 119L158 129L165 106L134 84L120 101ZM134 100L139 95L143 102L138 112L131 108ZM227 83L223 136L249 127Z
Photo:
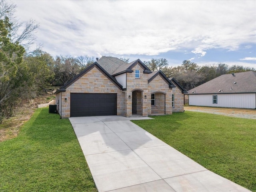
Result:
M151 93L151 114L164 115L166 114L166 93L153 92Z

